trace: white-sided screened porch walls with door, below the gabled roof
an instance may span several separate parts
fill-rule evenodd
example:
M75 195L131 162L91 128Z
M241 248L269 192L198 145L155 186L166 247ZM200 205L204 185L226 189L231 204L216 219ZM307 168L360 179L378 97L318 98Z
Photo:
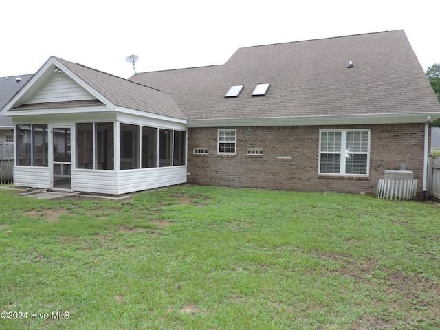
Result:
M17 124L17 186L119 195L186 182L186 129L127 122Z

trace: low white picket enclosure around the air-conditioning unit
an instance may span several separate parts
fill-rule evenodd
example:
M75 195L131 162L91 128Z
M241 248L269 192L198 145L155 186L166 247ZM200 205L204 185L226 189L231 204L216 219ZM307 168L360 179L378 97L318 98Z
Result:
M379 179L376 197L383 199L411 200L417 192L417 179Z

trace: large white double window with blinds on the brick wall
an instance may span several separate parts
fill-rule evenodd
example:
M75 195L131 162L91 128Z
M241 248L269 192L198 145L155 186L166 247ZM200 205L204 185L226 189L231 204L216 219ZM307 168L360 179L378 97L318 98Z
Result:
M320 131L320 174L368 175L370 131Z

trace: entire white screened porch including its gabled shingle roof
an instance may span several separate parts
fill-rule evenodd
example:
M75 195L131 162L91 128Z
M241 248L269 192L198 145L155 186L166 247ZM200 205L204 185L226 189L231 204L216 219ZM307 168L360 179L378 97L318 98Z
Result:
M5 113L17 186L120 195L186 182L187 120L157 89L52 56Z

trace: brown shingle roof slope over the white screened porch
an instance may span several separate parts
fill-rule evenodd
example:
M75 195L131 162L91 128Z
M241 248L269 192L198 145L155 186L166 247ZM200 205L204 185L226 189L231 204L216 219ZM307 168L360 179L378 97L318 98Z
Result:
M184 113L179 109L173 98L162 91L78 63L72 63L62 58L56 58L56 60L115 106L173 118L185 118Z

